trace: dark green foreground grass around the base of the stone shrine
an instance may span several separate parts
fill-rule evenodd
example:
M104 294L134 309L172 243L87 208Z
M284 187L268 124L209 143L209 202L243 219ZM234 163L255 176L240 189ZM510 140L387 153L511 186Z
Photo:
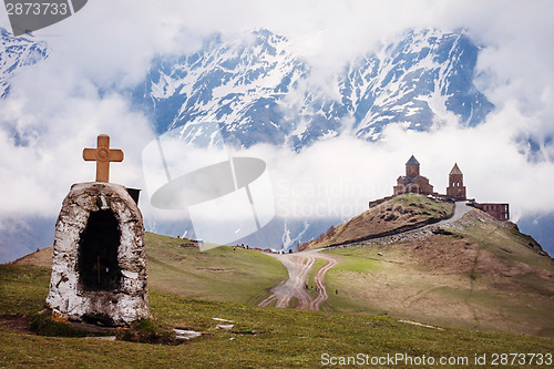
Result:
M43 308L50 271L0 265L0 314ZM21 291L18 294L17 291ZM158 346L85 338L21 334L0 325L0 367L51 368L316 368L321 356L468 357L499 352L553 352L554 339L463 329L431 329L388 317L257 308L202 301L151 290L158 322L204 332L181 346ZM234 331L215 329L213 318L233 319ZM421 368L422 366L381 366ZM423 366L424 367L424 366ZM460 366L454 366L460 367ZM538 366L531 366L540 368ZM547 367L547 366L543 366ZM500 366L502 368L502 366Z

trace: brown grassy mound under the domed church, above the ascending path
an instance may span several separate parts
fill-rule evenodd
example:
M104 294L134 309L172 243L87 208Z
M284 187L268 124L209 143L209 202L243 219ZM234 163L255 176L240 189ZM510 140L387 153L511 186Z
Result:
M302 244L300 249L343 244L370 235L382 234L407 225L418 225L431 218L448 217L453 204L435 202L419 194L394 196L337 227L331 227L317 239Z

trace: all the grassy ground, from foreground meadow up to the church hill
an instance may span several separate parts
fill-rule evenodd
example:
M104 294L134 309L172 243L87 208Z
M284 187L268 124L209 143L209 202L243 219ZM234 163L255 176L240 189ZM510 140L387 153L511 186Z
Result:
M397 201L404 211L392 209L403 221L451 211L428 209L409 196ZM391 211L383 205L384 217L377 216L381 222L376 216L368 222L384 227L396 221L384 221ZM359 228L349 224L342 234ZM257 307L269 287L287 278L268 255L232 247L201 253L181 247L183 239L154 234L146 234L145 243L155 321L198 330L202 337L157 346L29 334L24 321L44 307L48 295L48 248L20 265L0 265L0 367L304 368L319 367L324 353L398 352L466 357L464 367L476 368L482 366L474 365L475 355L486 355L490 365L493 353L554 351L553 259L515 225L476 209L428 237L326 250L339 262L326 275L326 311ZM322 265L316 263L310 283ZM236 326L219 330L213 318Z

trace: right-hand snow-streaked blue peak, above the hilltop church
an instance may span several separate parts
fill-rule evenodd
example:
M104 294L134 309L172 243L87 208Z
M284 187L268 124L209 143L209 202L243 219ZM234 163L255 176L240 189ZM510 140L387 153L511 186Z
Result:
M394 122L427 130L449 112L464 126L480 123L493 105L473 84L478 51L463 33L410 31L350 63L339 88L356 134L376 140Z

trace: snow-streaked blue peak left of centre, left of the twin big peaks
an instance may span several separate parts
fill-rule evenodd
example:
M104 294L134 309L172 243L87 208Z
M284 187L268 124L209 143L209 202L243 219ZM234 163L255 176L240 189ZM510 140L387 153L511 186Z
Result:
M246 146L280 144L294 129L284 100L307 73L284 37L263 30L223 42L216 35L194 54L154 60L136 96L153 113L158 133L215 121L226 137L236 133Z

